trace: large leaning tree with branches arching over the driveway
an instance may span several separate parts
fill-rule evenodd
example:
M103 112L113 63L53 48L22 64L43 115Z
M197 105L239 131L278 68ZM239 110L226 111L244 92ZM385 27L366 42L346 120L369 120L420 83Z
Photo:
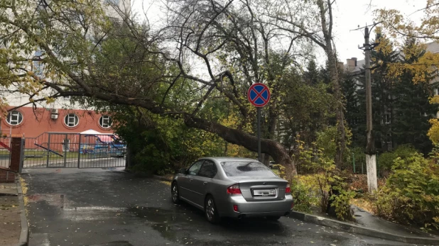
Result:
M5 86L28 94L28 104L85 96L134 106L251 151L257 150L256 110L246 91L254 82L264 82L273 97L263 111L262 152L295 173L288 150L272 136L288 84L283 75L308 58L309 43L303 37L321 40L327 53L334 53L332 17L328 24L327 6L321 4L325 11L313 13L323 18L319 38L303 27L279 28L283 24L269 17L260 2L170 1L166 25L155 32L117 6L112 8L121 21L112 21L97 0L42 5L16 0L0 5L0 36L5 40L0 77ZM271 13L277 14L274 9ZM33 62L41 65L38 73ZM218 105L236 117L234 124L224 122L227 114L217 113Z

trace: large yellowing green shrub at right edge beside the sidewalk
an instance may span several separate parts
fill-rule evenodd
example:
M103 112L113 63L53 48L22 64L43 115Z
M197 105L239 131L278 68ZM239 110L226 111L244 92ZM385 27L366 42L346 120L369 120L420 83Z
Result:
M375 212L399 223L439 228L439 168L418 153L394 160Z

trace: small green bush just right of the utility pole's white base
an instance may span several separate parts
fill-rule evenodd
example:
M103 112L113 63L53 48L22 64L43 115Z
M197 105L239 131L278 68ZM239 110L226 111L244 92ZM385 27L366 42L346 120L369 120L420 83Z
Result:
M400 145L393 152L382 153L378 157L379 172L383 174L383 176L387 176L391 171L391 167L396 158L400 157L401 159L406 160L415 153L418 153L418 151L411 145Z

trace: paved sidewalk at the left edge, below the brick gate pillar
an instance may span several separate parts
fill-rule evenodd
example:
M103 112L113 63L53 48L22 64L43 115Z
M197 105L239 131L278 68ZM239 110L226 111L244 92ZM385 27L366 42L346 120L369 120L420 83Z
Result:
M21 233L16 183L0 183L0 245L18 245Z

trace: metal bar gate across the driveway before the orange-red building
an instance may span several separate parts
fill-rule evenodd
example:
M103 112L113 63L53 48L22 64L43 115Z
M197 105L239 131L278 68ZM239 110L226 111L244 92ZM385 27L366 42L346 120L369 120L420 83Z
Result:
M126 144L114 134L43 133L26 138L23 168L125 167Z

